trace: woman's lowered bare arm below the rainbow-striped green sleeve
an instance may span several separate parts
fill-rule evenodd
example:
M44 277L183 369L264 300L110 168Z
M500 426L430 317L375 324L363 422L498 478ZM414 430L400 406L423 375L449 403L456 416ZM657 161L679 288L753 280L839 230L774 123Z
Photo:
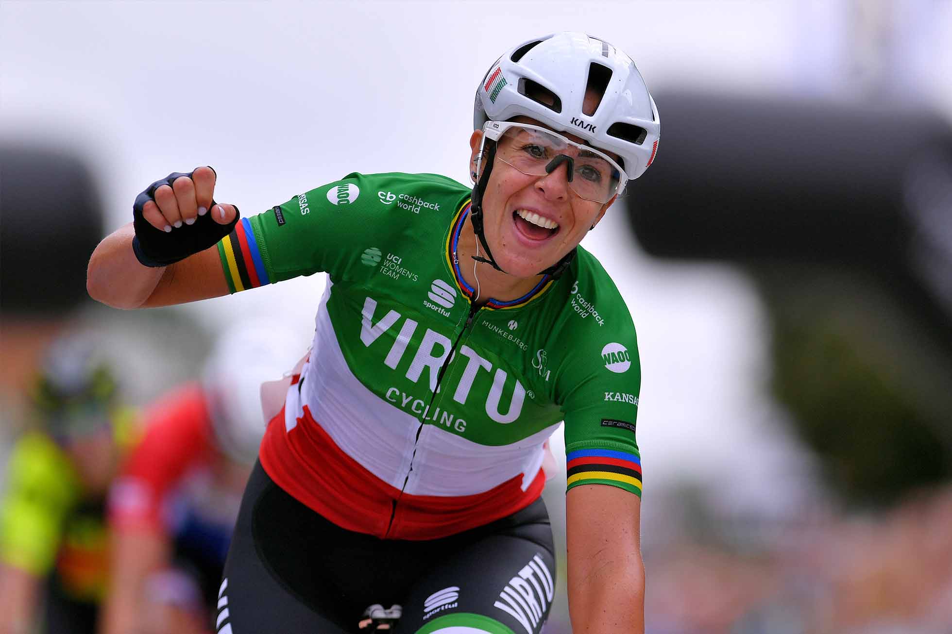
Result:
M572 631L644 634L641 498L606 485L575 486L565 496Z

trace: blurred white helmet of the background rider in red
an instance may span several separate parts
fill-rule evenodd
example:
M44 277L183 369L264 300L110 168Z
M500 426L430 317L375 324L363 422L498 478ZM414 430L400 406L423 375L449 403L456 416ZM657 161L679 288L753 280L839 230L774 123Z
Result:
M261 384L280 379L307 350L307 341L248 321L229 327L215 341L202 376L215 442L235 462L250 464L265 433Z

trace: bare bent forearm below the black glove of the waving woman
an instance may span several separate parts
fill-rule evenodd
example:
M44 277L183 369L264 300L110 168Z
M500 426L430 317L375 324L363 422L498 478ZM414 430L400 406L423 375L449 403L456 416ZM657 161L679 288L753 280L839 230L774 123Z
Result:
M132 223L110 233L92 252L86 273L89 296L115 308L142 307L166 267L145 267L132 252Z

